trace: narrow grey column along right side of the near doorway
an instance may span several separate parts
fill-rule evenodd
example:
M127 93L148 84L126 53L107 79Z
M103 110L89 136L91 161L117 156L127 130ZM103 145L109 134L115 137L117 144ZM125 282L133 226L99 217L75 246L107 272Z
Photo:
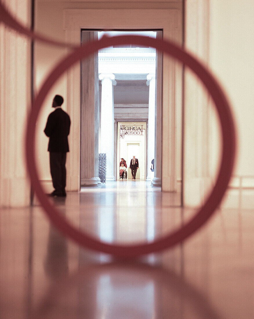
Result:
M157 39L162 39L162 31L157 32ZM156 50L156 85L155 85L155 149L153 186L161 186L162 163L162 53Z

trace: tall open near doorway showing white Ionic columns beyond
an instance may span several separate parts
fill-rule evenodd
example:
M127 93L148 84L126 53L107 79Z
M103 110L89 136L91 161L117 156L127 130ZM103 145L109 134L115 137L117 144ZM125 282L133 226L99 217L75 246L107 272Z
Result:
M105 32L102 31L83 30L81 32L82 43L93 39L99 39L104 34ZM107 35L109 36L119 34L138 34L153 38L158 37L158 34L162 36L161 31L155 30L107 32ZM142 152L139 153L139 157L141 156L139 162L141 161L142 163L142 170L139 170L138 172L139 178L149 182L152 181L151 170L148 170L147 167L151 164L151 161L156 158L156 144L157 149L160 149L160 151L157 152L156 167L157 172L160 171L161 141L157 143L156 138L160 140L161 134L156 134L155 115L156 108L158 108L160 109L159 114L161 116L162 87L160 85L159 90L157 88L156 92L156 77L161 77L162 66L158 73L156 62L156 49L151 47L139 47L138 45L131 44L113 46L99 50L98 56L93 56L90 61L89 59L82 61L81 187L91 185L96 186L99 184L96 176L91 175L92 171L89 170L88 172L88 169L85 167L88 160L91 163L93 154L96 157L95 150L97 147L98 153L106 153L106 182L112 182L119 179L119 156L121 156L117 153L117 123L119 122L125 124L142 122L142 125L144 126L145 135L143 136L143 139L145 138L145 140L137 142L142 148ZM89 95L91 97L89 97ZM155 100L156 95L160 103ZM95 112L92 116L86 108L86 105L91 105L91 103L94 103L95 108ZM98 119L96 119L97 116ZM93 124L91 124L91 121L96 122L94 127ZM157 116L157 122L161 122L161 117ZM83 141L87 139L87 133L82 136L82 126L85 127L87 132L87 126L91 127L91 125L92 130L90 130L90 132L93 133L92 135L94 137L96 136L96 126L98 125L98 146L94 145L92 157L91 152L87 150L87 146L91 147L91 138L90 142L83 143ZM148 134L146 134L147 131ZM129 143L134 142L135 141L132 140L129 141ZM130 146L128 149L130 150ZM87 156L86 153L88 153L89 156ZM86 160L86 157L89 158ZM127 161L130 161L130 159L127 159ZM96 159L94 159L94 162L96 163ZM129 165L129 163L127 163L127 165ZM94 168L93 174L95 174L95 170L96 167ZM89 174L90 176L88 176ZM129 177L131 176L131 174L128 175ZM161 173L158 175L161 175ZM158 186L161 186L160 183Z

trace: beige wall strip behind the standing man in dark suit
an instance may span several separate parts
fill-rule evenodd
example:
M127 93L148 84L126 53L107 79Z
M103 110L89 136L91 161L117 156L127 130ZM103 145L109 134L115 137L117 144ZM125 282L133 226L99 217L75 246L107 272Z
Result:
M64 41L63 28L63 8L62 3L58 2L35 2L35 30L50 36L53 39ZM61 40L60 40L61 39ZM34 91L37 93L41 84L48 76L52 68L66 56L68 50L52 45L35 42L34 45ZM49 139L43 133L48 115L53 112L52 100L56 94L64 98L63 109L66 111L66 77L61 77L51 88L49 94L44 100L40 116L36 126L36 159L39 170L39 177L44 186L45 192L53 190L51 175L49 170ZM67 155L68 161L68 155Z

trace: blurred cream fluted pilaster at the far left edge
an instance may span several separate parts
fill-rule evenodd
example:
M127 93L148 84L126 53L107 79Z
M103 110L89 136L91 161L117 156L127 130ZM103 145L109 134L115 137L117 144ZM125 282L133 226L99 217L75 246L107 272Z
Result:
M13 16L29 25L30 1L5 2ZM3 24L0 38L0 206L25 207L31 190L24 160L31 105L31 41Z

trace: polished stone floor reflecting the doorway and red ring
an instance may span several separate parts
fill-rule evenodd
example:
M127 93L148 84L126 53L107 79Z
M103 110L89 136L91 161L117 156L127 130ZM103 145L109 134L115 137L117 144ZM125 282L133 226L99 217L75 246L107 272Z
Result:
M52 201L109 243L152 241L194 213L179 194L138 180ZM253 213L220 209L173 249L121 261L59 234L36 201L2 209L0 318L253 319Z

